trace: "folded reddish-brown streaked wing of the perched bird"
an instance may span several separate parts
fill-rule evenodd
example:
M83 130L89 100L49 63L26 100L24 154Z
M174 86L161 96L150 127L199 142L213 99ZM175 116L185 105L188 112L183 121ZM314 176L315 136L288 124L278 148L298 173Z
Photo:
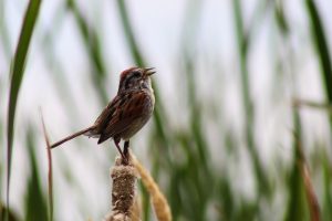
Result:
M122 134L132 126L133 120L146 114L144 113L146 99L149 98L146 92L132 92L122 97L116 97L118 101L112 102L113 105L110 107L112 116L107 117L108 120L104 123L105 127L101 130L98 144Z

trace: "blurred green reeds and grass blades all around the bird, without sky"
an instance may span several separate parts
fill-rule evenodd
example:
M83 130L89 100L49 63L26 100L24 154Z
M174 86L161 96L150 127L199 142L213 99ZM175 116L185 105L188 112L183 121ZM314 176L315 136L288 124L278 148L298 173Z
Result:
M0 2L0 14L4 9L6 1ZM15 52L11 52L9 42L14 42L17 40L9 39L9 23L7 23L3 15L0 15L0 52L4 55L3 62L8 63L6 57L11 59L11 69L8 70L8 75L0 76L0 92L7 91L7 93L0 94L1 101L9 101L8 106L1 102L0 107L4 109L8 118L1 115L0 119L0 144L1 152L6 154L6 157L1 157L0 161L0 219L1 220L52 220L53 215L49 215L49 211L53 211L52 203L48 203L50 196L48 194L48 185L41 181L46 177L45 171L48 169L42 168L39 161L40 156L44 156L46 159L46 154L44 151L44 146L41 146L38 140L43 140L41 130L41 124L39 119L33 123L15 122L14 114L17 104L20 103L18 97L20 96L20 87L22 81L24 81L24 66L27 64L27 59L29 60L29 45L31 44L31 38L33 31L37 30L38 23L42 22L38 20L39 11L42 10L44 1L30 0L29 7L25 10L25 15L22 18L20 36L18 38ZM52 84L56 88L59 97L62 97L61 102L63 108L68 113L68 117L75 122L80 117L76 113L80 109L76 107L74 102L74 96L71 92L71 84L66 81L66 71L63 66L63 61L59 57L54 50L54 44L56 44L58 30L69 17L73 18L73 22L77 29L77 35L81 41L83 51L86 52L86 60L89 62L87 66L91 67L89 73L91 74L90 86L96 92L97 98L101 106L104 106L110 97L107 92L106 81L110 74L110 66L106 65L110 62L108 57L105 57L104 46L101 41L101 31L98 27L94 27L89 21L87 17L82 10L80 2L76 0L65 0L56 4L58 8L54 9L54 14L52 19L52 27L46 30L39 29L38 39L42 41L32 41L34 43L40 43L43 49L43 59L45 66L50 74L48 76L51 78ZM124 42L126 49L129 53L133 65L137 66L154 66L151 61L148 61L147 54L145 54L144 46L138 43L137 34L135 32L135 24L133 22L134 18L128 12L127 1L115 1L115 10L117 11L117 18L122 32L124 35ZM253 88L256 85L255 77L252 76L249 69L250 60L255 61L255 54L250 53L255 48L257 41L257 33L262 29L262 23L268 23L272 27L273 33L279 38L279 43L283 44L288 52L287 55L280 55L277 51L272 50L271 64L276 65L276 76L271 78L276 81L271 87L270 92L267 94L273 94L272 91L282 91L284 88L284 82L292 80L293 82L287 84L287 87L291 92L293 98L305 98L298 97L297 84L300 84L300 75L295 74L299 64L297 64L294 50L291 45L290 35L298 30L294 25L290 25L287 13L289 11L286 8L284 1L268 1L258 0L253 4L255 15L251 20L246 21L243 7L246 6L243 1L234 0L228 2L230 6L232 18L230 22L234 29L235 45L234 50L237 51L237 64L238 66L238 87L239 91L239 104L242 114L242 129L235 129L232 125L224 124L226 117L220 109L216 107L225 106L224 99L217 99L215 96L206 96L199 94L197 90L200 84L199 80L199 63L197 60L201 57L198 56L196 51L198 50L198 23L201 20L201 14L204 13L205 2L201 0L187 1L184 11L183 21L183 33L180 35L177 52L174 55L174 60L178 61L175 64L174 70L180 73L177 76L181 80L179 87L181 94L179 98L183 99L184 104L187 104L187 108L179 110L178 116L172 116L167 113L168 101L163 101L163 95L167 92L163 91L159 86L160 82L154 82L154 88L156 94L156 108L153 117L152 128L149 130L147 146L148 156L152 173L160 183L160 189L166 193L166 197L170 203L174 220L314 220L312 218L312 210L314 204L312 204L312 199L308 197L308 191L313 191L319 202L320 218L321 220L332 220L332 164L331 156L331 145L326 140L318 140L314 147L308 147L304 144L303 137L305 137L305 124L301 124L301 112L302 109L308 109L308 112L317 108L321 115L330 118L326 122L329 125L329 134L332 133L332 114L330 107L332 105L332 64L330 56L329 38L326 36L326 31L324 30L324 23L329 21L324 20L320 14L317 1L305 0L302 2L302 13L308 19L307 28L308 36L310 40L310 48L315 50L314 57L321 69L317 71L317 74L321 78L321 87L324 93L325 102L318 107L312 107L301 103L292 105L292 101L288 102L288 109L291 113L292 125L289 128L289 137L292 138L290 143L291 159L290 164L280 156L276 157L278 171L277 173L271 172L271 168L262 159L263 156L260 155L260 149L263 148L260 144L257 127L258 116L256 112L258 97L255 96ZM85 9L86 10L86 9ZM218 25L218 21L214 25ZM208 33L207 33L208 34ZM277 38L276 36L276 38ZM222 41L220 39L220 41ZM207 52L205 52L207 53ZM162 56L162 55L160 55ZM284 56L284 57L283 57ZM218 60L218 59L216 59ZM201 61L204 62L204 61ZM112 63L112 61L111 61ZM151 65L152 64L152 65ZM157 66L156 66L157 67ZM216 73L222 73L222 67L216 65L210 67ZM163 70L158 69L158 72ZM288 70L288 71L284 71ZM283 72L284 73L279 73ZM0 73L2 74L2 73ZM112 73L115 74L115 73ZM290 74L291 76L287 76ZM4 80L9 78L10 83L4 85ZM222 77L221 77L222 78ZM38 84L38 82L35 82ZM217 85L217 86L216 86ZM216 82L212 85L212 90L221 90L222 83ZM211 92L212 93L212 92ZM221 93L218 92L218 93ZM283 92L280 92L283 93ZM83 95L82 95L83 96ZM227 94L224 96L228 96ZM7 97L7 98L6 98ZM271 103L278 103L278 98L271 95ZM315 102L315 101L313 101ZM319 102L319 101L318 101ZM89 104L89 101L87 103ZM212 113L212 114L211 114ZM183 118L187 116L187 124L178 129L172 126L172 119ZM212 118L212 123L211 123ZM48 120L46 120L48 122ZM229 120L228 120L229 123ZM25 126L23 126L25 124ZM19 126L18 126L19 125ZM17 127L25 127L23 133L25 150L28 154L28 164L24 166L29 170L27 180L22 180L21 185L24 189L25 197L22 197L22 202L20 203L23 209L12 208L11 200L7 199L6 196L15 196L15 190L10 188L10 194L7 185L10 185L9 180L13 172L11 170L11 162L15 160L15 139L14 135ZM208 127L218 128L219 144L215 144L209 139L208 133L211 131ZM8 136L3 136L4 128L7 128ZM215 129L214 129L215 130ZM22 135L21 135L22 136ZM276 140L278 144L283 143L283 137L279 137L276 134ZM280 140L280 141L278 141ZM44 144L44 143L42 143ZM270 144L270 146L278 146L276 144ZM245 149L242 149L245 148ZM299 150L300 148L300 150ZM219 155L226 155L225 157L216 157L216 149L219 150ZM308 149L314 149L314 151L307 151ZM83 151L83 150L82 150ZM303 156L299 154L303 151ZM42 154L41 154L42 152ZM134 150L135 152L135 150ZM253 180L253 189L249 189L249 196L246 196L240 191L245 190L245 179L243 177L238 177L237 169L235 167L240 160L242 154L248 155L248 162L246 172L249 172ZM219 162L215 159L222 158L227 161ZM305 158L305 159L304 159ZM317 159L318 158L318 159ZM107 162L103 162L103 167ZM65 160L63 160L65 162ZM58 161L62 164L62 161ZM69 162L66 162L69 164ZM304 164L304 165L303 165ZM111 166L111 165L108 165ZM229 167L228 167L229 166ZM303 177L301 173L302 166L310 168L310 179L309 181L313 185L313 189L309 189L304 185L308 177ZM63 167L63 166L60 166ZM234 167L234 168L230 168ZM6 168L6 169L4 169ZM108 168L103 168L106 170ZM75 191L81 189L81 187L72 181L74 171L68 169L63 170L62 175L66 178L68 185ZM241 172L243 173L243 172ZM93 177L93 175L89 176ZM239 180L235 180L235 178ZM93 178L92 178L93 179ZM107 178L105 178L107 180ZM80 183L82 185L82 183ZM239 189L240 186L241 188ZM143 214L142 219L144 221L154 220L154 215L149 206L149 199L146 190L139 183L139 192L142 196ZM55 192L56 187L53 187ZM73 192L75 192L73 191ZM105 189L106 191L106 189ZM108 194L108 192L107 192ZM105 196L107 196L105 193ZM64 197L64 196L62 196ZM65 196L69 197L69 196ZM63 211L56 210L59 206L56 202L61 202L61 193L55 196L54 201L54 220L58 218L65 218L66 214L62 214ZM108 199L108 196L106 197ZM86 197L84 198L86 199ZM85 204L84 204L85 203ZM75 207L75 206L72 206ZM9 208L9 210L8 210ZM83 211L90 209L89 202L82 200L82 204L77 204L76 208L82 210L82 214L95 214L98 215L103 211ZM107 207L104 207L107 208ZM6 212L9 211L9 212ZM17 211L23 211L24 214L20 214ZM106 211L104 211L106 213ZM52 212L51 212L52 213ZM273 215L273 217L271 217ZM87 220L89 217L85 217ZM96 218L92 218L97 220Z

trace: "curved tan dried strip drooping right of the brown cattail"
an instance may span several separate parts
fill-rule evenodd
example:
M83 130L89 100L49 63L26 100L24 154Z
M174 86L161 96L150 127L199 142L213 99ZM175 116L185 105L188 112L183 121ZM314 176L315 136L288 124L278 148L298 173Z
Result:
M158 185L154 181L149 172L143 167L143 165L132 155L132 164L137 169L142 181L151 194L152 203L155 209L155 213L158 221L170 221L172 213L167 200L163 192L159 190Z

